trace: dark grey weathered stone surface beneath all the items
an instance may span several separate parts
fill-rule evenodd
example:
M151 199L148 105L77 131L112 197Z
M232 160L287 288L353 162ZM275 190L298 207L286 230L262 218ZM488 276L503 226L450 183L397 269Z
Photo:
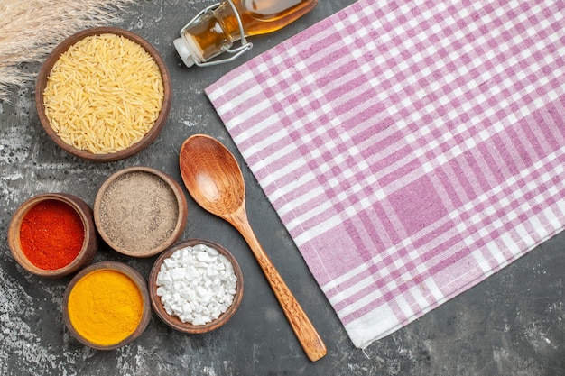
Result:
M560 375L565 374L563 267L565 235L559 234L411 325L369 346L354 348L327 299L312 279L292 239L203 89L228 70L351 0L320 1L299 22L264 37L241 60L186 69L172 47L181 27L208 5L200 0L139 1L117 26L152 42L173 80L165 129L140 154L111 163L78 160L47 140L33 103L33 89L17 90L0 103L0 374L1 375ZM310 362L301 351L243 238L227 223L189 199L189 222L181 240L222 243L240 262L245 297L236 316L208 335L172 331L153 318L133 344L110 352L70 337L61 316L69 278L43 280L20 268L8 250L7 226L17 206L42 192L69 192L92 205L97 188L116 170L134 165L163 170L179 182L178 151L194 133L224 142L242 165L248 214L259 241L295 293L328 346ZM136 260L101 246L96 261L124 261L149 275L154 258Z

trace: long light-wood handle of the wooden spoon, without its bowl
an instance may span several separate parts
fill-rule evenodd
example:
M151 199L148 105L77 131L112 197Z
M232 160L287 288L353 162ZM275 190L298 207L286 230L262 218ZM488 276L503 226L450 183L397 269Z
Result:
M274 296L278 299L284 315L292 326L292 330L298 338L298 341L301 343L304 353L306 353L310 361L316 362L327 353L326 344L322 341L301 305L296 298L294 298L294 295L292 295L292 291L288 288L284 280L282 280L281 274L275 269L269 256L264 252L251 225L249 225L245 213L242 214L240 212L239 216L232 219L235 220L230 222L232 222L236 229L243 235L251 251L254 253L255 259L263 270L264 276L269 281Z

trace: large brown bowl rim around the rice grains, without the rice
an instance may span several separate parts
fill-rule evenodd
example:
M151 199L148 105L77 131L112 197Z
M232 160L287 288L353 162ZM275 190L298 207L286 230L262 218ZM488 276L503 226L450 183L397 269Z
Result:
M144 48L144 50L146 50L153 57L153 60L155 60L157 66L159 67L159 70L161 71L162 83L164 87L164 98L159 116L153 124L153 127L149 130L149 132L145 133L141 141L136 142L129 148L121 151L107 154L97 154L90 151L79 150L78 148L71 146L66 142L63 142L60 139L59 135L51 128L50 120L45 115L45 108L43 105L43 90L47 86L47 78L51 75L51 69L53 68L53 65L57 62L57 60L59 60L62 53L69 50L70 46L74 45L76 42L82 40L85 37L91 35L100 35L104 33L122 35L125 38L128 38L129 40L140 44ZM69 151L69 153L79 158L93 161L122 160L131 157L132 155L144 150L147 146L149 146L149 144L151 144L155 140L159 133L161 133L162 128L167 121L169 111L171 110L171 96L171 77L169 75L169 71L167 70L167 66L165 65L157 50L155 50L148 41L145 41L139 35L134 34L134 32L129 32L116 27L97 27L83 30L69 36L69 38L65 39L64 41L61 41L60 44L57 45L48 56L47 60L45 60L45 62L43 63L42 69L39 72L35 84L35 106L37 108L37 114L39 115L40 122L45 132L57 145L60 146L61 149Z

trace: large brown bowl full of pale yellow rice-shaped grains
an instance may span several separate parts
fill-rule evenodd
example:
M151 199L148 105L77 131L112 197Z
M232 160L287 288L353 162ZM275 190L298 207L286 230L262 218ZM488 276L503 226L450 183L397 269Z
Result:
M51 52L35 85L40 122L65 151L122 160L149 146L171 109L171 77L142 37L116 27L71 35Z

